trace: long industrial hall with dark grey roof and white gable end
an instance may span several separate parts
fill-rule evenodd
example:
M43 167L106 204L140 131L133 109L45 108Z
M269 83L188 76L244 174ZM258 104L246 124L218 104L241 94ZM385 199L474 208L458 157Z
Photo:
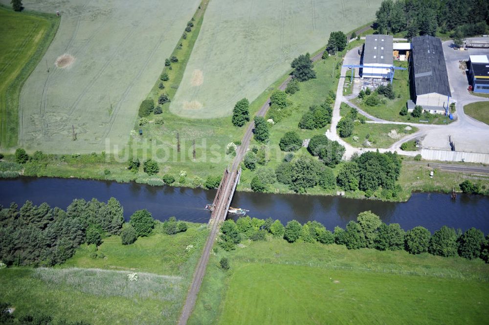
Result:
M411 98L408 111L421 106L423 111L445 114L450 105L450 86L446 73L442 41L430 35L412 39L409 57Z

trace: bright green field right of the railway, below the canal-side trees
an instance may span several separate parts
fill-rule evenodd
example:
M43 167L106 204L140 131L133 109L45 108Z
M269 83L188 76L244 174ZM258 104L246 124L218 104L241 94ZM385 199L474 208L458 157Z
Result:
M487 278L489 272L482 260L348 251L334 244L289 244L283 239L244 244L236 251L211 256L189 324L484 324L489 320L485 299L489 287L478 279ZM217 266L222 256L230 260L227 273Z

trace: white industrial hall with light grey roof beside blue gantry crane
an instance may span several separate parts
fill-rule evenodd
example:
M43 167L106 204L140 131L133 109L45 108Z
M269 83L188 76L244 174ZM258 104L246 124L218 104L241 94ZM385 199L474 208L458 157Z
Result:
M367 35L363 45L360 70L362 78L380 78L389 79L391 67L393 66L392 56L392 36L389 35ZM367 68L365 66L376 66L376 68ZM385 66L386 68L378 68Z

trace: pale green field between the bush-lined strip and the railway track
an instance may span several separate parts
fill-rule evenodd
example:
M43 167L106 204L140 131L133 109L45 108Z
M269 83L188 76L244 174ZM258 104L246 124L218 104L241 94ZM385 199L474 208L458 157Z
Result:
M324 46L330 32L372 21L379 4L210 1L171 112L189 118L229 116L238 100L253 101L289 70L294 57Z

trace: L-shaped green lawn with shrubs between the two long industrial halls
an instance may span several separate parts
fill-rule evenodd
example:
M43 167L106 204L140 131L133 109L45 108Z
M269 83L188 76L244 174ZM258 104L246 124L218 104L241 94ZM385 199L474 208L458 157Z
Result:
M394 65L401 66L407 68L407 62L404 61L394 61ZM411 122L411 123L420 123L420 121L428 121L421 123L428 124L448 124L453 120L450 120L448 116L434 114L432 117L426 118L422 116L420 118L412 117L410 114L406 116L402 116L399 114L401 108L406 107L406 102L409 100L409 82L408 82L408 70L396 70L394 75L394 91L396 93L396 98L393 100L389 100L383 96L380 96L385 100L385 104L380 104L375 107L371 107L365 105L363 100L356 98L352 100L352 102L357 105L362 110L367 113L381 118L386 121L396 121L396 122ZM400 97L399 97L400 95Z

